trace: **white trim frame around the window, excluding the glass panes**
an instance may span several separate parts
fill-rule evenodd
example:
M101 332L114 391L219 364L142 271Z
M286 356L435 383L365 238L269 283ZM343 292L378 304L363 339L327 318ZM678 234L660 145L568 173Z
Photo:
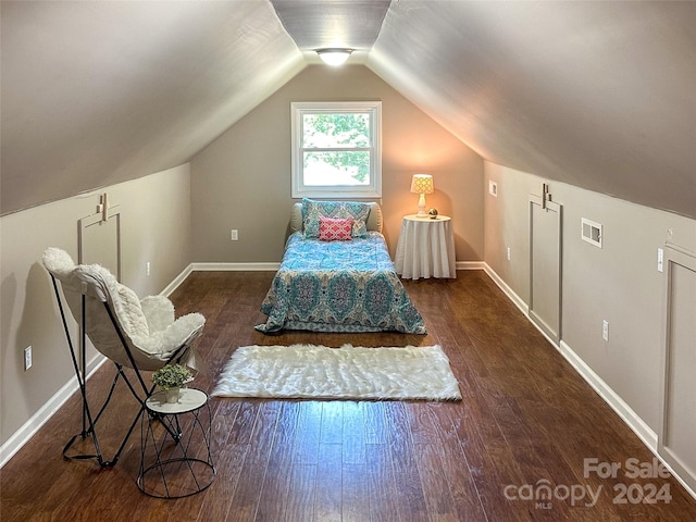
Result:
M304 186L300 152L304 112L372 112L374 139L370 185ZM381 101L294 101L290 103L291 197L293 198L381 198L382 197L382 102Z

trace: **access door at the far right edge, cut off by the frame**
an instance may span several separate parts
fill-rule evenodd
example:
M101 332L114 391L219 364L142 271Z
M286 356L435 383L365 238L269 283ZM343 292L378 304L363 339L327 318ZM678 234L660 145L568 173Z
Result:
M658 452L696 488L696 258L667 247L662 425Z

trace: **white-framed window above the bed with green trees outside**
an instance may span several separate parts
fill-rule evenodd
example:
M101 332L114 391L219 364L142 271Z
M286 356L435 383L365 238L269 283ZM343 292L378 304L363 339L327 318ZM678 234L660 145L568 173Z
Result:
M382 196L381 101L290 107L294 198Z

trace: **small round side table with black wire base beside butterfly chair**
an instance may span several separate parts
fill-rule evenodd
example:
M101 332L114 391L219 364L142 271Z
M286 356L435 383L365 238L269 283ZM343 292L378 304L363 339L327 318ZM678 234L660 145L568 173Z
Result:
M208 395L182 388L177 402L166 402L164 391L158 391L145 406L148 414L140 424L138 488L151 497L182 498L210 486L215 468Z

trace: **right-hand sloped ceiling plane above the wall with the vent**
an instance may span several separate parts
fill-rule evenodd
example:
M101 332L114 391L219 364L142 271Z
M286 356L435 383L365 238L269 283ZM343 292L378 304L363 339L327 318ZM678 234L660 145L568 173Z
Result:
M393 2L368 66L483 158L696 216L696 2Z

